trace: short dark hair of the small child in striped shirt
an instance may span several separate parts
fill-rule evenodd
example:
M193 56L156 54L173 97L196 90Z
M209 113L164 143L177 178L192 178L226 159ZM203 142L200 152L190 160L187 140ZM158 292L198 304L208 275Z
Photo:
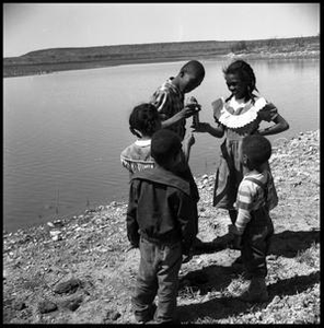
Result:
M242 153L248 159L248 168L258 169L271 156L270 141L259 134L246 136L242 140Z

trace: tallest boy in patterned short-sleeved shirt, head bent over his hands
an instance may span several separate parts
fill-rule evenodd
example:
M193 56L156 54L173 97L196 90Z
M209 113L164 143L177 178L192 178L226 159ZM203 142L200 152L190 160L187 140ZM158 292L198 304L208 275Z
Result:
M150 99L160 113L162 128L175 131L181 140L186 133L186 118L197 113L194 104L185 106L185 93L200 85L204 78L204 66L197 60L190 60L181 68L175 78L164 82Z

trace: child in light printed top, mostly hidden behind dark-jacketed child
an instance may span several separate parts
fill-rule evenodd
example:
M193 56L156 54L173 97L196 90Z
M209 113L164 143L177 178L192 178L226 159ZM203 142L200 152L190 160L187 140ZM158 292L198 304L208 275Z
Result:
M138 139L120 154L120 162L129 171L135 172L154 167L151 156L151 138L161 128L161 119L154 105L140 104L129 116L129 130Z

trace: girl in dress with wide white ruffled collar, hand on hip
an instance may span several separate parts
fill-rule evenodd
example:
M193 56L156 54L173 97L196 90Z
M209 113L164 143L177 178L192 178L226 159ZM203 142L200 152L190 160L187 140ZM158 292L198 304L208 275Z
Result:
M194 131L208 132L216 138L225 136L216 174L213 206L227 209L234 224L238 212L233 204L244 175L243 166L239 161L239 144L245 136L276 134L287 130L289 125L271 103L254 93L254 91L258 92L255 85L256 79L247 62L236 60L225 68L223 73L231 95L212 103L213 118L218 126L211 127L207 122L200 122ZM259 129L263 120L273 121L274 125ZM273 197L277 198L276 189L271 188L271 190Z

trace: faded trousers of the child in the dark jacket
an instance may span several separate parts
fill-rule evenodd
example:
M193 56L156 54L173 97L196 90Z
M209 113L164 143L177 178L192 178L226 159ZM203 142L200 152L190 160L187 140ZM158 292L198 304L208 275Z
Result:
M140 265L136 281L132 307L135 318L146 321L150 318L153 302L158 295L155 320L172 323L175 317L178 289L178 271L182 265L181 242L152 243L140 238Z

